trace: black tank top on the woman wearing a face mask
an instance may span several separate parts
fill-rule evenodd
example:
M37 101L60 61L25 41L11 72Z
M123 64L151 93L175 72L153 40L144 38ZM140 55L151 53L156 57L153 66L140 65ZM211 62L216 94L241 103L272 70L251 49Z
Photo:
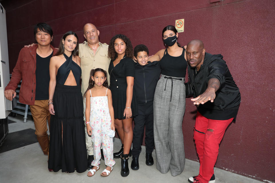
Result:
M184 49L178 57L168 54L167 48L160 60L161 74L171 77L185 77L187 62L184 58Z

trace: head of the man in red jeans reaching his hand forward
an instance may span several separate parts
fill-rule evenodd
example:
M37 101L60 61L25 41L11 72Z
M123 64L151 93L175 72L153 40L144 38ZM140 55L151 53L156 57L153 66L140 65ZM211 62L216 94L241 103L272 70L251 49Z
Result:
M190 67L201 68L205 57L205 48L203 41L194 39L187 44L186 57Z

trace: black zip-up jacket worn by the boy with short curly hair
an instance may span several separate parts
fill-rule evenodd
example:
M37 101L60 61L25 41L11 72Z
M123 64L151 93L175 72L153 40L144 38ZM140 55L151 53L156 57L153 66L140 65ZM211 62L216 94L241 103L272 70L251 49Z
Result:
M142 66L135 65L134 90L139 104L146 104L154 100L154 93L158 80L160 79L160 62L148 61Z

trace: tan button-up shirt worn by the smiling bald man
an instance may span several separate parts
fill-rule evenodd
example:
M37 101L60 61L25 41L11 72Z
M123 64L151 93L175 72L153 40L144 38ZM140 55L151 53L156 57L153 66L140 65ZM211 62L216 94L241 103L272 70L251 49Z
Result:
M88 43L84 41L84 43L79 44L79 57L80 57L80 67L82 70L82 84L81 84L81 92L82 95L88 88L90 72L91 69L101 68L107 72L108 85L110 85L110 75L108 73L108 68L111 59L108 58L108 47L106 43L99 42L99 47L94 55L93 49L88 46Z

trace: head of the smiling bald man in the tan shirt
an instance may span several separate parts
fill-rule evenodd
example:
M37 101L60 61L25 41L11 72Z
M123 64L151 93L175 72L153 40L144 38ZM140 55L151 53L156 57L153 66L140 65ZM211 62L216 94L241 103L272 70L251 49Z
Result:
M92 23L86 23L83 27L84 37L88 45L98 45L99 43L99 30Z

